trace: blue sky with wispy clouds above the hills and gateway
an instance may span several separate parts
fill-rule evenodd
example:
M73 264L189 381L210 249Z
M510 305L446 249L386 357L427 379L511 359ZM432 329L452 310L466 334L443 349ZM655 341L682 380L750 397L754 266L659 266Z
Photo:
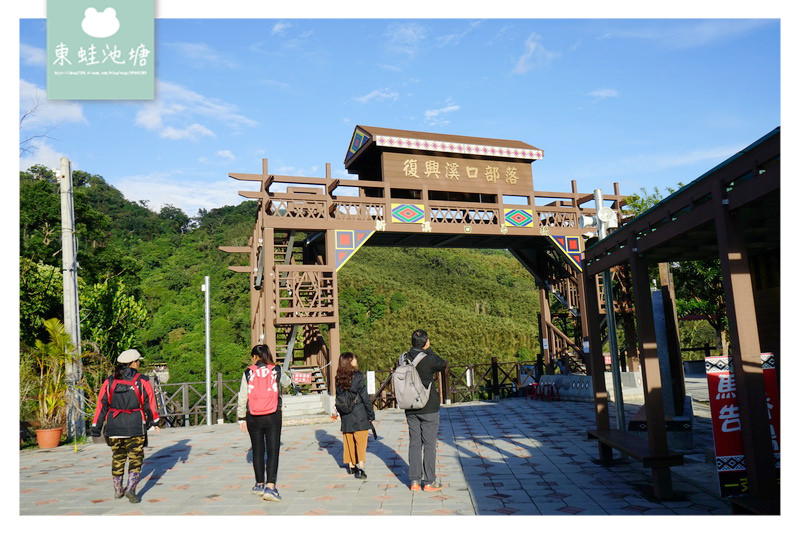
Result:
M781 124L781 23L761 19L158 19L156 99L48 102L46 24L19 26L20 169L102 175L189 215L229 172L347 176L356 124L516 139L538 190L689 182Z

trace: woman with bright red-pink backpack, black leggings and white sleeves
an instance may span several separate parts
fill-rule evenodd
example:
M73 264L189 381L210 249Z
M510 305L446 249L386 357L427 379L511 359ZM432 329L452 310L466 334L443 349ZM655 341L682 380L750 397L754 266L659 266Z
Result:
M241 430L250 434L253 446L253 471L256 477L253 494L267 501L279 502L281 495L275 483L278 480L283 423L279 385L281 368L275 364L266 344L254 346L250 358L252 364L242 374L236 417Z

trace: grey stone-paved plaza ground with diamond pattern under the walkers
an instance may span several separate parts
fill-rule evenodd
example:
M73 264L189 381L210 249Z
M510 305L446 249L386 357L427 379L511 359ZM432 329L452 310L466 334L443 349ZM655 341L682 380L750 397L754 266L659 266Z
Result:
M626 405L626 416L639 406ZM612 407L612 414L615 412ZM408 490L408 431L402 411L377 413L368 478L341 466L338 421L284 425L278 489L283 501L250 493L252 452L236 424L150 434L138 492L116 500L103 443L20 452L21 515L718 515L708 411L695 404L695 450L674 467L672 501L649 497L650 470L619 458L597 463L591 403L511 398L443 406L437 475L441 492ZM616 454L616 452L615 452ZM615 455L616 457L616 455Z

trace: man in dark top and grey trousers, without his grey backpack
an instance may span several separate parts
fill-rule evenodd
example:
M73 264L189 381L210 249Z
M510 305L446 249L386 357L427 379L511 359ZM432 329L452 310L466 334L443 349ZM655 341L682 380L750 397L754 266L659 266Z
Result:
M428 333L418 329L411 334L411 349L400 357L400 363L417 367L422 386L430 388L427 403L420 409L406 409L408 423L408 477L413 491L442 490L436 479L436 441L439 435L439 391L433 383L436 372L447 368L447 362L431 348ZM424 488L423 488L424 487Z

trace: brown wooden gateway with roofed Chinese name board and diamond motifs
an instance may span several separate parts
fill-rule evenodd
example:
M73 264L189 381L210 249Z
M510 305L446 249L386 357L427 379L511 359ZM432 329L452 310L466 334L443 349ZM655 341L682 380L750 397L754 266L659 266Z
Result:
M592 192L534 188L531 165L541 149L521 141L357 126L345 154L352 179L280 176L262 160L260 182L240 191L258 200L249 254L229 267L250 276L251 342L267 344L287 367L317 371L316 389L333 391L339 356L336 272L364 245L509 250L536 278L543 305L544 363L584 370L585 320L579 276L581 215L595 213ZM624 197L605 195L621 217ZM589 205L589 202L592 202ZM550 298L570 311L567 335L550 320ZM328 324L326 343L319 331ZM300 364L302 363L302 364ZM313 389L313 387L312 387Z

